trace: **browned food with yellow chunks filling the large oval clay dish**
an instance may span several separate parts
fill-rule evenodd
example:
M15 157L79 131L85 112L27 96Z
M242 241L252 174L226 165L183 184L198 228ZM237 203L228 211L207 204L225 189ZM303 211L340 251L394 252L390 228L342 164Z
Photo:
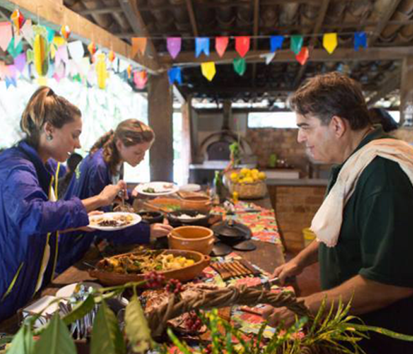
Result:
M171 271L189 267L195 261L184 256L173 256L159 251L129 253L125 256L105 258L103 270L118 274L144 274L149 271Z

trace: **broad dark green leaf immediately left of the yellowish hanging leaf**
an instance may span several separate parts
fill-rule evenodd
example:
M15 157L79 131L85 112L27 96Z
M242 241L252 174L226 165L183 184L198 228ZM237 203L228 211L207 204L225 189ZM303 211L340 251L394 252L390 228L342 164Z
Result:
M106 302L100 304L92 329L91 354L124 354L126 346L118 320Z

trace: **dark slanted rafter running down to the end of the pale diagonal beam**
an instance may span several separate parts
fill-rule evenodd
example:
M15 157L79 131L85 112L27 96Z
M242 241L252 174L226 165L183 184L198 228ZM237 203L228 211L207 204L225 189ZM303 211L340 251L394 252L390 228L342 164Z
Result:
M146 28L145 22L136 7L136 1L134 0L119 0L120 7L122 8L127 21L131 25L132 30L134 30L134 37L150 37L149 32ZM146 54L149 58L158 61L158 52L156 52L153 42L149 38L147 41Z

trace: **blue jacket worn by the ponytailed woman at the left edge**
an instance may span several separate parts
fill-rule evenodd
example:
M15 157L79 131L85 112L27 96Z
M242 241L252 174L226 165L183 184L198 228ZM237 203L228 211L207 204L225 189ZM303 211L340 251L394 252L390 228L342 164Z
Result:
M50 260L43 284L52 280L56 231L89 223L78 198L49 201L53 167L25 142L0 154L0 321L34 295L47 242Z

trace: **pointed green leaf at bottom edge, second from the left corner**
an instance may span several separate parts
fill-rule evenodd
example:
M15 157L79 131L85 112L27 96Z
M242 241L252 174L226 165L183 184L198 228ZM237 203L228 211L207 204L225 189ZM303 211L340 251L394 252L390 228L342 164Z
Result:
M76 354L76 347L67 326L55 313L40 339L34 345L34 354Z

